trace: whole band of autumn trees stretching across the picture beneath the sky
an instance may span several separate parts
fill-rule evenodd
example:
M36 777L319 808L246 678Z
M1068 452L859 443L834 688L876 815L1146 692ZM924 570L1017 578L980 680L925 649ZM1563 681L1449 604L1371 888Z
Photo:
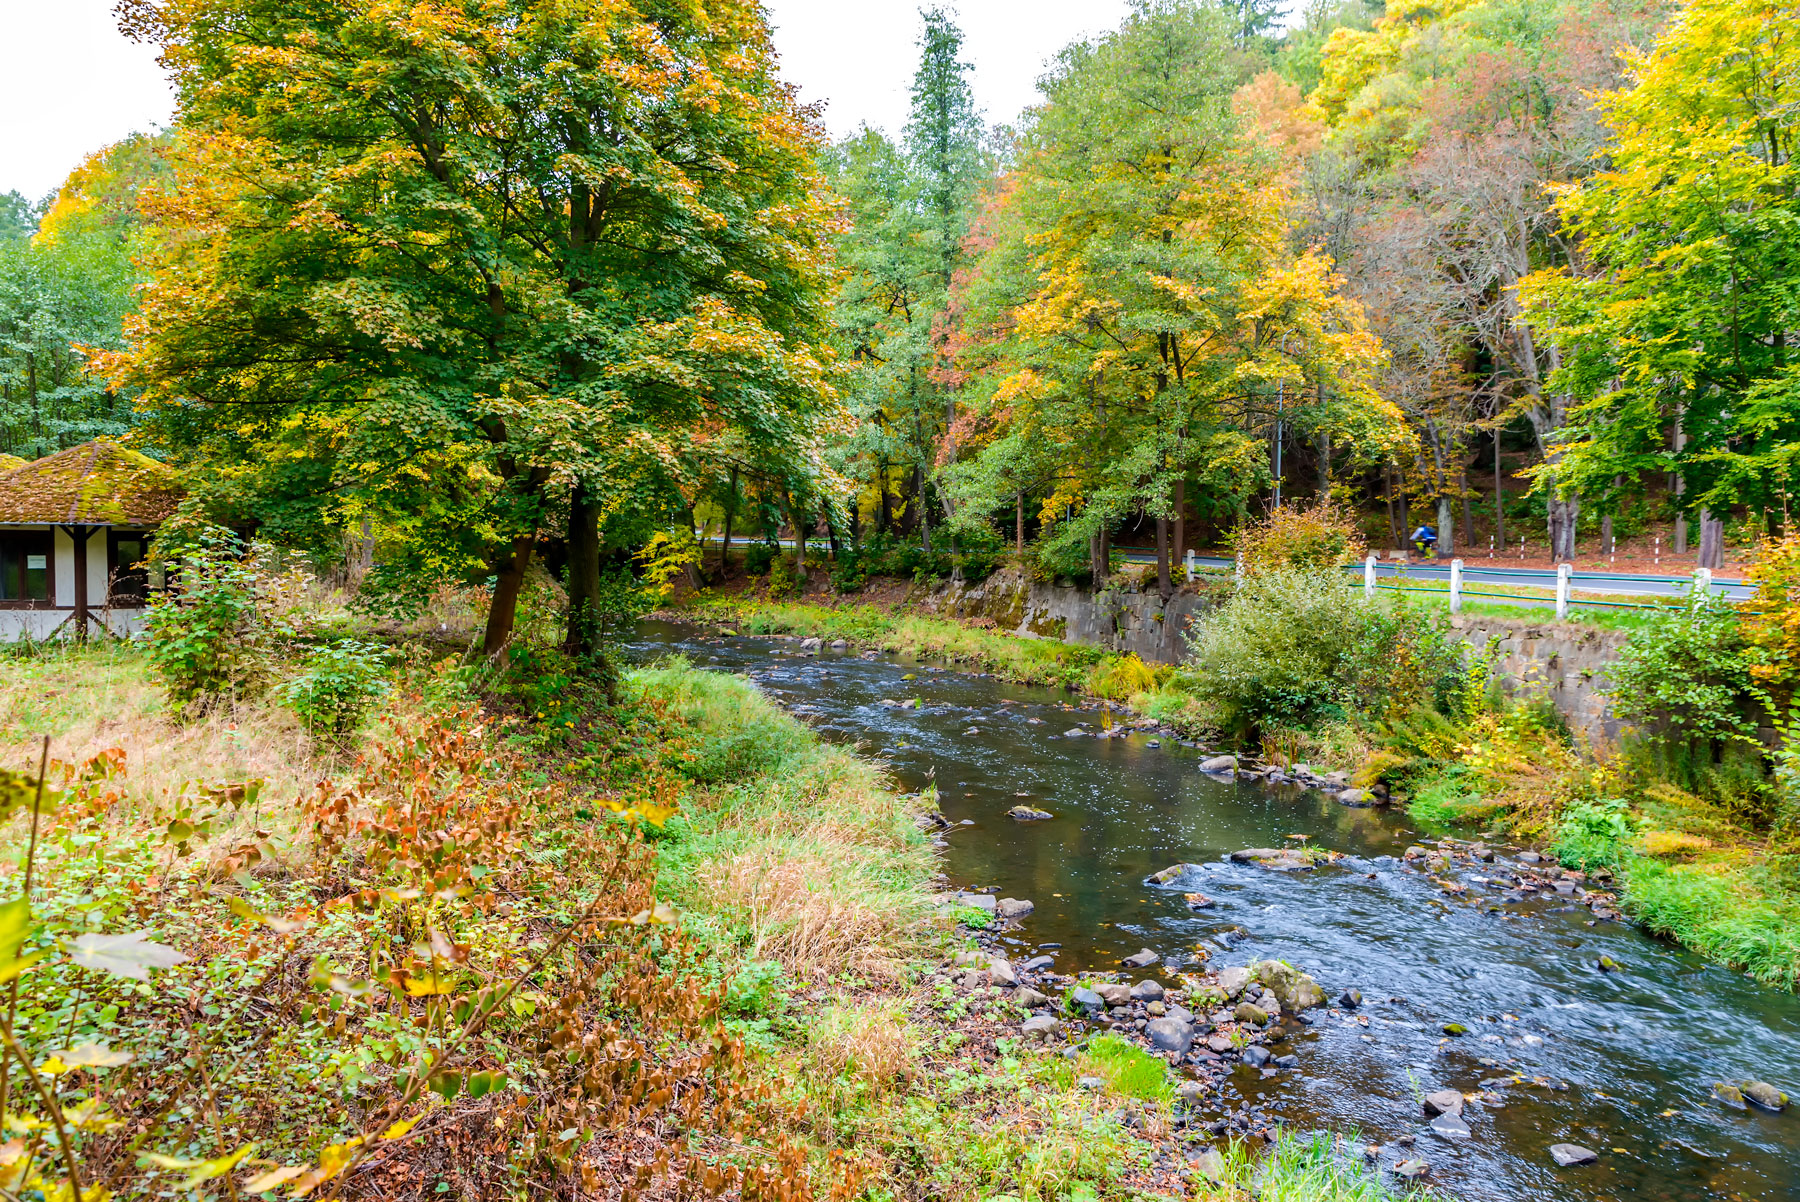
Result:
M542 565L592 650L697 531L1168 588L1298 497L1559 558L1786 524L1791 5L1150 0L1015 128L931 11L905 128L837 144L738 0L121 13L176 126L13 205L0 437L135 423L216 520L491 581L490 651Z

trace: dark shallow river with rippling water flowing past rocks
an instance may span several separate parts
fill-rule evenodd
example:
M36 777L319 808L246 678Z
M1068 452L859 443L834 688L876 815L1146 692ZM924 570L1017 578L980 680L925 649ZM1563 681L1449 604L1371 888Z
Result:
M1427 1161L1433 1182L1471 1202L1800 1198L1800 1103L1762 1114L1710 1099L1714 1081L1746 1078L1800 1096L1791 993L1595 921L1562 898L1505 903L1481 884L1451 898L1399 860L1420 837L1404 813L1215 779L1199 772L1201 752L1170 738L1069 738L1105 718L1058 691L895 655L805 657L794 642L644 623L634 659L668 651L747 673L821 736L889 763L909 790L936 783L954 824L949 880L1037 903L1017 934L1021 954L1060 945L1057 970L1076 972L1116 968L1138 948L1179 961L1201 946L1213 968L1285 959L1332 997L1361 990L1355 1013L1312 1011L1292 1040L1298 1071L1233 1074L1271 1116L1359 1128L1390 1146L1417 1135L1400 1153ZM923 707L880 704L911 698ZM1019 803L1055 817L1004 817ZM1314 873L1222 858L1289 835L1345 858ZM1192 912L1181 893L1143 884L1183 860L1206 866L1213 909ZM1483 867L1501 866L1456 875ZM1476 896L1483 902L1471 903ZM1622 970L1598 972L1600 955ZM1467 1035L1445 1036L1449 1022ZM1498 1090L1503 1105L1465 1110L1469 1139L1438 1137L1420 1117L1424 1092L1474 1092L1512 1074L1525 1081ZM1593 1148L1600 1161L1557 1168L1555 1143Z

